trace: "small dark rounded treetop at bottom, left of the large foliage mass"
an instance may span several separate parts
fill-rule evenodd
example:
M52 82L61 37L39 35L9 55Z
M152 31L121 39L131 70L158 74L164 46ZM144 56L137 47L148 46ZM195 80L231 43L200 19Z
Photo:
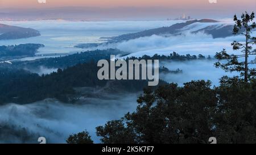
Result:
M66 140L68 144L93 144L89 132L83 131L74 135L70 135Z

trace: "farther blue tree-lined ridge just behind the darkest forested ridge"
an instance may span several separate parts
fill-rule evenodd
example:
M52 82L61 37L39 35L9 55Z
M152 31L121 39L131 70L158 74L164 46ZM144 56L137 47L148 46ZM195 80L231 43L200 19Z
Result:
M60 57L52 57L52 58L40 58L37 60L32 61L14 61L13 64L7 65L9 68L38 68L40 66L44 66L46 68L67 68L69 66L74 66L76 64L82 64L85 62L89 62L91 60L98 61L98 60L109 60L110 55L115 56L126 56L129 53L120 51L119 49L104 49L104 50L95 50L95 51L87 51L87 52L80 52L75 53L73 55L68 56L60 56ZM170 52L170 55L158 55L155 54L154 56L147 56L144 55L142 57L127 57L126 60L160 60L160 61L189 61L189 60L203 60L203 59L210 59L211 57L208 56L207 58L203 55L195 56L195 55L179 55L176 52ZM3 64L0 64L0 66ZM5 64L5 67L7 67Z

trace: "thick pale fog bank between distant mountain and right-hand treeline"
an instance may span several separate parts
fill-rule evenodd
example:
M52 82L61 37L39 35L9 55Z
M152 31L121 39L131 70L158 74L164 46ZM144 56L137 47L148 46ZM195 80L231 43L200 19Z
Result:
M256 31L252 33L252 36L256 36ZM233 51L231 43L236 41L243 41L244 36L232 36L225 38L213 39L212 35L207 35L203 32L199 33L183 33L180 36L150 36L141 37L134 40L123 41L116 46L122 51L132 51L130 56L154 56L158 55L170 55L172 52L179 53L179 55L204 55L214 56L216 52L226 49L229 53L239 53L239 51ZM256 45L254 45L254 48ZM104 47L102 47L104 48ZM112 47L113 48L113 47Z

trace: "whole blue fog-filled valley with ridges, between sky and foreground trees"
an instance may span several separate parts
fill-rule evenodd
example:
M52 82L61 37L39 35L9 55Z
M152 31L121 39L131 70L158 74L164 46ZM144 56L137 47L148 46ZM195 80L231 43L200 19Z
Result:
M84 130L94 143L100 143L95 128L135 111L137 99L147 85L147 81L98 80L97 61L109 60L110 55L118 59L158 57L159 65L167 70L160 70L159 85L173 82L183 86L204 79L210 80L213 87L220 85L223 76L239 75L214 66L216 52L226 49L240 53L233 51L231 43L243 41L242 36L220 36L221 28L233 27L232 19L195 22L172 33L165 32L164 27L185 21L1 23L33 28L40 36L0 40L0 45L44 46L33 49L30 55L0 57L0 143L38 143L41 136L47 143L65 143L69 135ZM145 30L156 28L163 28L164 33L147 36ZM134 38L125 40L126 36L121 37L125 34ZM250 56L249 60L254 58Z

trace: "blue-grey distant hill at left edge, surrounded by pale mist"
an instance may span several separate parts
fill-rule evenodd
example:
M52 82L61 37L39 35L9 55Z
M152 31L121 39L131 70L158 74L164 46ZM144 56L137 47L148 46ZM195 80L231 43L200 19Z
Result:
M40 36L40 32L32 28L0 24L0 40L22 39L34 36Z

